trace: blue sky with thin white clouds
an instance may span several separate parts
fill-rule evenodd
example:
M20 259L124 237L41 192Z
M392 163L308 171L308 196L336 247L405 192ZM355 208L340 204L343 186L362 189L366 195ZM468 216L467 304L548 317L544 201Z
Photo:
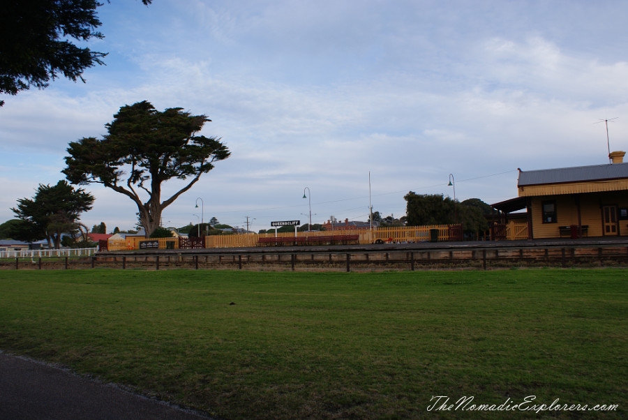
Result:
M105 38L87 45L106 66L0 96L0 223L64 179L69 142L142 100L207 115L201 134L232 152L164 226L257 232L310 209L312 223L367 220L370 204L399 218L409 191L492 204L516 197L518 168L608 163L606 125L611 151L628 150L622 1L103 3ZM82 223L135 226L128 197L82 188L96 197Z

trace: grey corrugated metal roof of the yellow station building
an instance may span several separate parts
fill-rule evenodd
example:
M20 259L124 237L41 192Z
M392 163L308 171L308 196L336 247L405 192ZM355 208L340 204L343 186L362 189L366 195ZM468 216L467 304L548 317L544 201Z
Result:
M628 163L521 171L517 186L628 178Z

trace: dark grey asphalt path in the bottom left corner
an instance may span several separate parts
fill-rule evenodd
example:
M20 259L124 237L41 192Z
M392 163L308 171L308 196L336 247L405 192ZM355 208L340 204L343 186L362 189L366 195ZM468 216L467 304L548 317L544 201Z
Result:
M207 420L201 413L0 352L2 420Z

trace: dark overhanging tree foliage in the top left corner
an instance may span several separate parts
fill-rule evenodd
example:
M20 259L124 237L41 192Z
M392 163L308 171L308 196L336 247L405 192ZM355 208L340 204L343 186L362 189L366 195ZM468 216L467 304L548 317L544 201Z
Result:
M84 82L84 70L104 64L106 53L73 43L104 37L96 31L100 27L96 8L102 3L5 0L0 4L0 93L16 95L31 86L43 89L59 75Z

